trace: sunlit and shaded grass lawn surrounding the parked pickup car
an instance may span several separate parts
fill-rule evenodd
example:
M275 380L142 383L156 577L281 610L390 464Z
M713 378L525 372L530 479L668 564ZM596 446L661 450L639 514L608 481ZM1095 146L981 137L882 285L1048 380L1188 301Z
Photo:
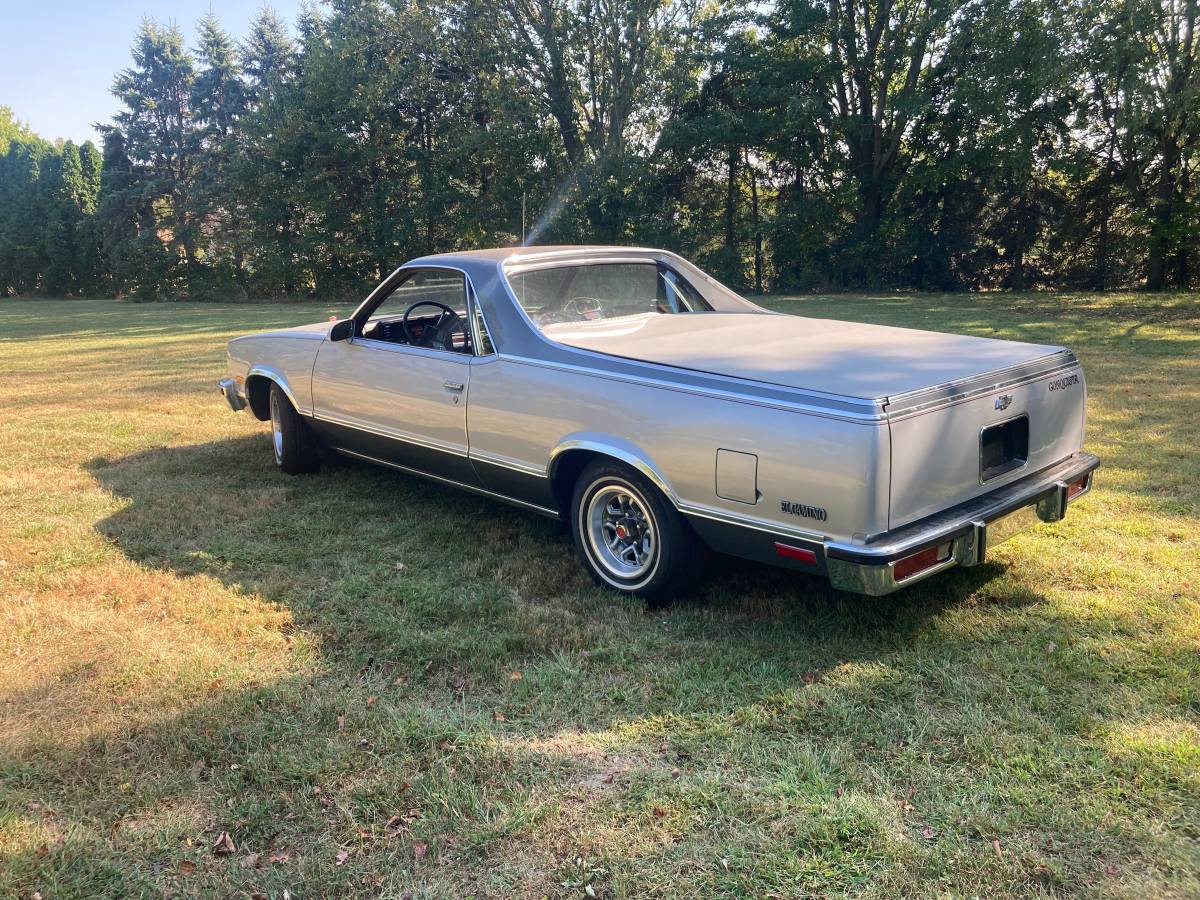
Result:
M652 614L545 520L277 473L224 342L329 307L0 301L0 896L1200 896L1198 299L768 302L1069 344L1097 490Z

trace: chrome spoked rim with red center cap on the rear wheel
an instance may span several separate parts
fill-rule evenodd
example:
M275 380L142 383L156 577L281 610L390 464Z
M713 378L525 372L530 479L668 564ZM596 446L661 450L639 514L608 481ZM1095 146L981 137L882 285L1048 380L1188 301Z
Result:
M628 485L606 485L592 494L583 522L592 557L622 581L640 578L658 558L658 528L649 505Z

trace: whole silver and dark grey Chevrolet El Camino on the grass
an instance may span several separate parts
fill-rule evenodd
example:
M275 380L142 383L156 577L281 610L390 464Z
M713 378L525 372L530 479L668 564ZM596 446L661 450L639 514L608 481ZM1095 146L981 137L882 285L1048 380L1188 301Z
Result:
M631 247L414 259L347 319L230 341L220 386L283 472L336 451L565 520L652 602L702 545L884 594L1062 518L1099 464L1068 349L774 313Z

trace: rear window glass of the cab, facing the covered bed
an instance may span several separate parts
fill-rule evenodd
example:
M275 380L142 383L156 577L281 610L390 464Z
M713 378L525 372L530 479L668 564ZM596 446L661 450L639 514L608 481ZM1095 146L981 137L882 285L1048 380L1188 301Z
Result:
M650 260L556 265L514 274L509 283L539 328L712 310L678 272Z

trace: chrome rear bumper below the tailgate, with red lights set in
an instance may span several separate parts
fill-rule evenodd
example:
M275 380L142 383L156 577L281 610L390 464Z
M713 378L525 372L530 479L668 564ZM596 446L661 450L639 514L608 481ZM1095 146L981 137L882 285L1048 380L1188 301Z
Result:
M1082 451L1042 472L1004 485L934 516L876 535L865 544L827 541L829 581L840 590L889 594L924 581L954 565L978 565L988 550L1042 522L1057 522L1067 504L1092 490L1092 473L1099 458ZM1069 486L1087 478L1082 491L1068 497ZM948 554L935 565L898 580L895 564L931 547L949 545Z

